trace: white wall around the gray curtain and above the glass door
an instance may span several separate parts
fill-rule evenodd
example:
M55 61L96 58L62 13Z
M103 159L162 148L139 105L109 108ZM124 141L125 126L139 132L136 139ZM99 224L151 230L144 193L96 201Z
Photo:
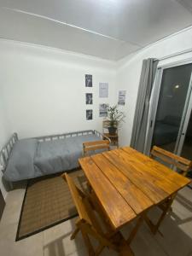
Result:
M116 84L118 90L127 90L126 104L123 108L126 114L126 119L121 132L119 132L119 143L121 145L129 145L131 142L131 131L143 59L150 57L162 58L166 55L172 55L185 49L192 49L192 28L160 40L118 62ZM188 58L192 58L192 52L160 61L159 65Z

